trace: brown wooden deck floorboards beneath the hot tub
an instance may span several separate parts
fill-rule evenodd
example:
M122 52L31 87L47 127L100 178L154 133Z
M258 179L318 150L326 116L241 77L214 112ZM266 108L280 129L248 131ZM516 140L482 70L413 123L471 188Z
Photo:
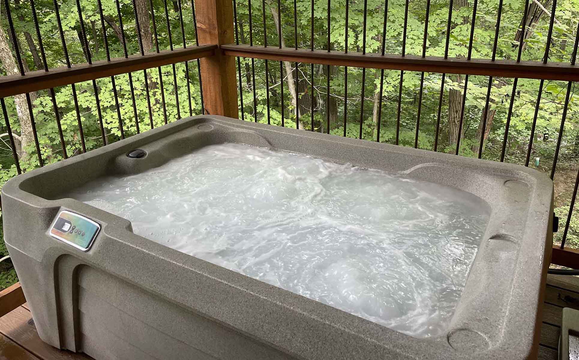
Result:
M540 360L556 360L563 307L579 310L579 278L548 275L543 325L538 352ZM90 357L58 350L45 344L36 333L27 304L0 318L0 359L83 359Z

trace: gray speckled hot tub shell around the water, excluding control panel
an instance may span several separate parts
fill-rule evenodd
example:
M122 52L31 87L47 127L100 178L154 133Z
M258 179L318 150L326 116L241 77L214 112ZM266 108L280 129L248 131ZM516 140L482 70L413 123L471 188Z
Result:
M241 142L404 173L465 190L491 215L444 336L416 339L154 243L131 223L61 194L201 146ZM126 156L144 149L141 159ZM552 246L551 180L530 168L358 139L196 116L13 178L4 236L47 343L128 359L521 359L538 346ZM61 210L101 231L83 252L49 236Z

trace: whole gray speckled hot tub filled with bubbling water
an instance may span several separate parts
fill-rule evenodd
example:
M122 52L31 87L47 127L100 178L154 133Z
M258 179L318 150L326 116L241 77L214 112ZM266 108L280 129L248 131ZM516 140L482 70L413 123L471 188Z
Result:
M214 156L223 151L228 153ZM203 153L213 157L195 162ZM277 186L256 183L248 192L237 189L241 186L236 183L211 177L219 164L239 163L229 170L228 179L247 176L242 170L253 166L247 179L261 181L269 172L262 172L259 164L269 164L264 159L272 157L285 161L279 165L282 181ZM170 177L174 170L167 173L168 164L182 174ZM318 183L298 174L311 170L316 175L319 168L331 174L321 175L325 186L321 190L316 188ZM340 197L343 173L354 174L354 183L360 185L356 189L348 183L354 196ZM384 192L385 178L398 184L390 192ZM133 182L123 185L127 179ZM191 196L197 199L203 181L213 186L205 188L210 189L206 191L209 200L195 203L190 214L186 201L176 215L171 215L173 209L163 202L164 197L155 207L157 193L173 193L178 198L184 196L179 189L192 188ZM101 204L102 199L96 197L108 188L111 196ZM129 191L133 188L146 192L137 196L138 192ZM313 195L303 200L310 192ZM263 193L266 197L260 203ZM371 199L372 193L376 199ZM380 199L386 193L394 197L384 199L382 206ZM416 193L426 200L416 200ZM216 199L218 195L232 205ZM244 200L250 195L252 199ZM354 203L348 201L352 197ZM452 201L446 201L451 197ZM551 180L521 166L221 116L196 116L10 180L2 188L2 215L6 245L39 335L55 347L86 352L97 359L512 360L532 357L537 351L538 306L552 243L552 199ZM303 201L313 205L298 209L303 218L283 212L288 207L294 211ZM140 207L141 203L148 207ZM426 217L406 215L411 207L425 211ZM335 209L341 209L339 215L332 212ZM273 211L282 215L270 214ZM455 223L453 219L461 218L462 212L471 214L470 222L460 222L452 231L428 227L445 219ZM189 217L180 218L184 213ZM255 219L265 219L270 225L264 230L259 223L251 223ZM156 229L156 221L164 224L162 229ZM334 225L328 225L332 221ZM408 223L412 224L409 229ZM303 232L306 227L308 232ZM412 235L408 238L407 233L402 241L397 234L405 231ZM189 232L184 238L195 238L197 243L185 246L176 241L182 232ZM343 234L350 237L342 238ZM467 246L463 238L468 234L472 239ZM257 244L238 246L254 237L259 237ZM438 242L423 245L423 238ZM358 240L364 240L363 246ZM281 245L267 247L276 241ZM303 248L313 243L317 252ZM217 252L206 251L207 247ZM299 259L291 260L290 247L302 249ZM325 247L338 257L320 258ZM258 248L261 252L256 255ZM396 254L388 252L400 248ZM226 258L235 249L253 257L240 256L238 251ZM360 265L360 251L374 254L375 261ZM270 262L248 266L251 259L264 254ZM394 258L402 263L412 260L412 269L417 270L411 282L420 277L421 284L432 291L431 295L416 286L416 293L450 296L446 288L424 284L418 271L422 269L430 278L450 284L455 301L442 307L433 300L431 313L412 317L412 321L426 317L426 323L419 319L401 325L391 321L389 311L384 314L380 309L408 313L416 308L412 299L402 296L390 304L383 292L360 295L359 282L340 286L350 284L352 277L356 281L365 278L366 288L389 289L397 296L408 282L401 286L381 277L394 270L395 264L389 262ZM444 271L423 266L426 258L434 259ZM458 260L446 261L451 258ZM280 269L291 277L285 282L287 277L282 279L276 268L282 260L287 261ZM316 267L318 260L324 270L309 269L309 263ZM448 269L454 270L449 274ZM295 280L310 270L317 277ZM395 270L398 274L404 269ZM343 279L328 278L329 273ZM400 277L406 276L403 273ZM338 295L346 302L336 301ZM358 298L365 302L362 310L350 308L348 302L356 303ZM368 310L367 303L378 303L378 310Z

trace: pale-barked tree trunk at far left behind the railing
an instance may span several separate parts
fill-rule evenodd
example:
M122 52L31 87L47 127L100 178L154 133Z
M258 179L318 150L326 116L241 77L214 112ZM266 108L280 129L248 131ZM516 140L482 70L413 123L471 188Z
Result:
M2 67L6 71L6 75L20 74L12 50L10 50L9 42L6 39L7 36L4 29L0 26L0 61L2 61ZM16 113L20 121L20 146L26 149L27 146L34 144L34 135L32 134L32 123L30 121L30 113L28 112L25 95L14 95L14 103L16 104ZM17 145L17 148L18 147L19 145ZM19 156L25 158L27 157L27 153L25 150L22 150Z

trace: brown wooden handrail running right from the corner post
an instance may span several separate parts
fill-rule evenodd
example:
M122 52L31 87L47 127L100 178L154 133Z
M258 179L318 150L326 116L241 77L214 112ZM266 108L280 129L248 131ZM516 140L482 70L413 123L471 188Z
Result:
M338 65L359 68L438 72L444 74L485 75L505 78L579 81L579 65L543 64L540 61L447 58L438 56L343 53L328 50L293 49L275 46L226 44L219 46L223 54L291 63Z

